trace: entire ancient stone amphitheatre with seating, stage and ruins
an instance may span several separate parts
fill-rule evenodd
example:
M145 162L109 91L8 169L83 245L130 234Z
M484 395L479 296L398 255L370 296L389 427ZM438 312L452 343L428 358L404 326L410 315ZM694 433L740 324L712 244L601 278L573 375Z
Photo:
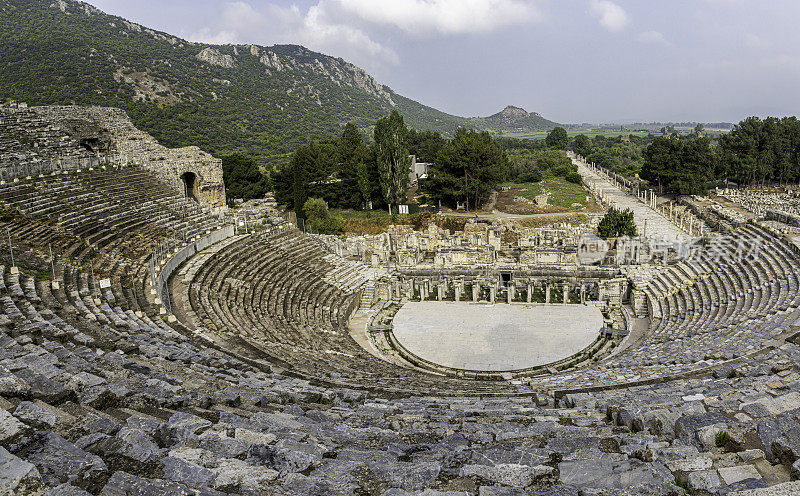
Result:
M0 494L800 494L795 197L580 172L646 243L304 234L121 112L0 109Z

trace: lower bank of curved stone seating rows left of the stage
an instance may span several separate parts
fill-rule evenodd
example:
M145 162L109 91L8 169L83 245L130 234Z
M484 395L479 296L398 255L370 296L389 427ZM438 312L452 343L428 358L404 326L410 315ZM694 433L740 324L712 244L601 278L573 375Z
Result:
M348 331L348 309L358 304L362 279L354 278L350 288L337 287L328 258L312 238L293 228L260 232L220 250L190 285L197 324L245 339L295 372L341 386L432 394L519 391L504 382L406 369L365 351Z

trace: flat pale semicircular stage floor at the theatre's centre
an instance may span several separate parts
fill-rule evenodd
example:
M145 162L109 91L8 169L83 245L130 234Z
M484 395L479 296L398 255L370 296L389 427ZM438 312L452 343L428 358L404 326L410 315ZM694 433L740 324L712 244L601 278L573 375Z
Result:
M395 339L424 360L462 370L513 371L546 365L591 345L603 326L594 306L409 302Z

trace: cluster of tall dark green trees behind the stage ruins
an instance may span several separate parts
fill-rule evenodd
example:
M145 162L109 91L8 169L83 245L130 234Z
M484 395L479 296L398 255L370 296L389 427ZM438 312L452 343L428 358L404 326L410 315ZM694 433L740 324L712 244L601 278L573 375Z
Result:
M331 208L387 208L405 203L410 155L431 166L425 195L454 207L482 205L509 174L505 151L488 132L459 129L450 139L432 131L408 129L392 111L378 119L371 136L345 125L336 140L310 141L272 175L275 197L305 217L308 199Z

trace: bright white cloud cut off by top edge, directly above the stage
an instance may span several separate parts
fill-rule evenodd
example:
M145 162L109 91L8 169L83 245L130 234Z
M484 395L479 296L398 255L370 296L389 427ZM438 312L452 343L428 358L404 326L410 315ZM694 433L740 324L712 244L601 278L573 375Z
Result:
M536 22L542 13L520 0L336 0L360 19L396 27L414 36L485 33Z

